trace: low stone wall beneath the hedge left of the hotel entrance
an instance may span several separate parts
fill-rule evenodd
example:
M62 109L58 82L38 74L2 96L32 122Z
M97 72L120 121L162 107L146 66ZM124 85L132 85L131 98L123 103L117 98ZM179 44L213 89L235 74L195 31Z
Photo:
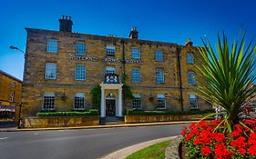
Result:
M70 127L98 125L99 116L44 116L22 119L22 128Z

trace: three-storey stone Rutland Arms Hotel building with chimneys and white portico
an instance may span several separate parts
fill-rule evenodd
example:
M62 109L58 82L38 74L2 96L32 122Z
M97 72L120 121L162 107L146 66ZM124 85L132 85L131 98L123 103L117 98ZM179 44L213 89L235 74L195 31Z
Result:
M186 45L72 32L70 16L59 19L59 31L26 28L23 116L41 110L87 110L91 89L100 84L100 116L123 116L126 107L142 110L206 109L193 94L200 55ZM121 76L134 96L124 99Z

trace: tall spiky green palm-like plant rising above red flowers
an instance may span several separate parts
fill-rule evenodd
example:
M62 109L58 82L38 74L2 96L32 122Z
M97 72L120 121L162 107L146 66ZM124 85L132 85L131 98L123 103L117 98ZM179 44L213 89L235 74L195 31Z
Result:
M245 46L245 33L240 41L233 41L231 47L225 33L214 50L208 40L203 40L204 47L200 47L203 65L197 66L200 77L200 97L211 104L220 105L224 115L221 124L225 124L227 130L232 130L232 125L242 124L240 114L255 95L255 65L256 45L251 43ZM244 125L244 124L243 124ZM246 125L244 125L246 126Z

